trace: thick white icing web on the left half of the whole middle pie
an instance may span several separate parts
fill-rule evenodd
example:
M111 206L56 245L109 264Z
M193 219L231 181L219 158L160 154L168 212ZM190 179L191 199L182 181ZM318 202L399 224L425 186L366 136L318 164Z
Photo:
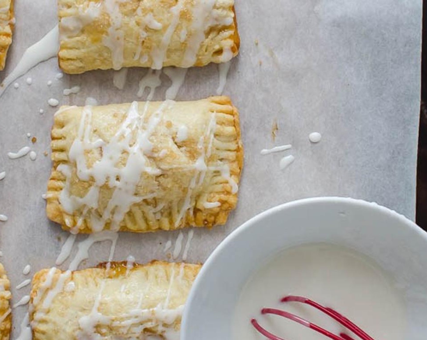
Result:
M82 217L85 217L87 212L91 213L90 218L93 231L101 231L107 221L110 223L110 229L117 231L120 228L120 222L123 221L125 214L129 211L132 204L154 197L155 193L143 197L136 197L133 193L143 172L151 175L161 174L159 169L152 168L147 164L144 154L151 154L152 144L149 138L155 127L162 120L164 108L167 106L171 107L173 104L174 102L172 101L165 101L149 117L145 123L145 128L136 128L142 127L144 124L149 103L145 104L143 112L140 115L138 112L138 103L133 102L125 121L108 144L99 139L94 142L90 141L89 133L91 131L92 112L91 108L86 106L82 112L78 136L70 148L69 159L72 162L76 162L77 176L81 180L94 178L95 183L85 197L72 196L69 192L70 167L64 164L58 166L58 171L61 171L67 177L66 185L59 197L64 210L68 213L73 213L73 211L82 206L97 207L99 188L108 183L115 190L101 218L92 214L91 211L83 212ZM130 146L130 140L133 137L135 137L135 144ZM91 169L88 169L85 163L85 151L96 148L102 149L102 157L94 163ZM117 161L122 157L123 151L129 153L126 165L116 168Z

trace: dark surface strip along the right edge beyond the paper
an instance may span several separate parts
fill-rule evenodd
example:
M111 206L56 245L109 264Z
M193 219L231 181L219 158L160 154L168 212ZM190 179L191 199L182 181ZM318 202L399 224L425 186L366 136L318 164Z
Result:
M422 50L416 222L421 228L427 231L427 0L424 0L423 6Z

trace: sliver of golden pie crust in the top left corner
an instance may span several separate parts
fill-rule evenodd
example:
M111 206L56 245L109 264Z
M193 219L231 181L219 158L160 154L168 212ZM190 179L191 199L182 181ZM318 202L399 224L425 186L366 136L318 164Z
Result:
M7 51L12 44L14 24L13 0L0 0L0 71L4 69Z

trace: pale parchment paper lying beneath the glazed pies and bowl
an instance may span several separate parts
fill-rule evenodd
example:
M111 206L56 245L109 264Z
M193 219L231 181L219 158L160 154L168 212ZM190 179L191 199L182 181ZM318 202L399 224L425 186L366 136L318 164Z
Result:
M9 74L24 50L57 23L52 0L16 1L17 24L7 68ZM237 210L226 226L196 230L188 261L204 261L219 242L252 216L287 201L318 195L340 195L376 201L409 218L415 211L415 165L420 99L421 1L413 0L236 0L241 50L228 75L225 94L240 109L245 168ZM255 43L258 41L258 44ZM58 225L47 221L45 201L50 174L50 127L61 104L83 105L88 96L99 103L137 100L137 83L146 73L129 71L123 91L112 84L113 71L77 76L59 72L50 59L18 80L0 98L0 249L12 281L13 302L29 287L14 287L35 271L54 265L67 238ZM28 86L26 77L32 77ZM168 83L154 99L164 99ZM47 81L53 85L48 87ZM79 85L77 95L62 90ZM214 95L218 86L216 65L190 69L177 100ZM44 114L38 110L44 109ZM272 142L272 124L279 130ZM313 145L308 134L322 133ZM33 145L26 133L36 136ZM261 156L260 150L292 144L280 154ZM7 152L30 145L38 157L10 160ZM295 156L284 171L281 157ZM188 231L184 231L184 242ZM120 234L115 260L132 254L138 262L167 259L164 245L178 232ZM85 236L78 239L84 239ZM82 267L108 258L108 242L91 248ZM76 246L73 253L76 251ZM64 263L61 268L67 268ZM30 276L28 275L28 277ZM14 335L26 307L13 310Z

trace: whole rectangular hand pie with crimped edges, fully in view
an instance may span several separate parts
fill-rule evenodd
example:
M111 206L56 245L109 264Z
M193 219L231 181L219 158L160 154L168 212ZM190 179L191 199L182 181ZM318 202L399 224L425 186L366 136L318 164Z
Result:
M243 147L228 97L63 106L52 129L47 216L72 233L224 224Z

